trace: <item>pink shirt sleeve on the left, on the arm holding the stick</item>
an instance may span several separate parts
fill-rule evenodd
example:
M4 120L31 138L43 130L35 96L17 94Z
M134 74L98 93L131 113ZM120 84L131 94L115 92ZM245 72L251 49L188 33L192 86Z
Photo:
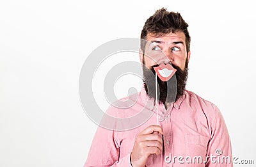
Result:
M108 115L116 115L115 109L109 107ZM106 115L105 115L106 116ZM108 116L103 116L101 123L109 122ZM117 117L116 117L117 118ZM111 120L112 122L113 120ZM110 123L115 126L114 123ZM115 128L114 128L115 129ZM98 127L92 141L90 151L84 167L88 166L131 166L130 154L120 158L120 139L113 129Z

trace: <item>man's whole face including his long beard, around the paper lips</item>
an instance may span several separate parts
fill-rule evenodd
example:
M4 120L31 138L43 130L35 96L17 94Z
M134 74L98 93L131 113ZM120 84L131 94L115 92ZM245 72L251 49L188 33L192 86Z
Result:
M171 63L173 68L177 70L175 73L177 85L174 77L167 82L161 81L157 77L157 83L159 84L159 101L163 102L163 104L173 102L184 93L188 77L190 52L187 53L186 51L186 37L182 32L169 33L163 36L148 34L147 41L145 53L140 53L141 63L143 63L145 89L149 97L156 98L154 76L156 73L153 67L157 67L161 63ZM177 97L173 100L172 95L174 94ZM170 98L168 99L168 97Z

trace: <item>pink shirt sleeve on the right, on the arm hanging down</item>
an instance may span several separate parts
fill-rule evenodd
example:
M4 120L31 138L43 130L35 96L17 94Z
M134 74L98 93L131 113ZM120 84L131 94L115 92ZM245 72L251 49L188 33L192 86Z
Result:
M206 166L232 167L231 141L227 126L218 107L214 106L214 108L216 109L216 117L211 129Z

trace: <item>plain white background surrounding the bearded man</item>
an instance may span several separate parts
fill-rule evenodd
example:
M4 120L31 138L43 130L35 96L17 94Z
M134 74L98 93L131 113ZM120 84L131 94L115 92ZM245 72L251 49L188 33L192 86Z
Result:
M83 62L109 40L140 38L145 20L161 7L189 24L188 90L220 108L233 155L256 163L253 4L1 1L0 166L83 166L97 128L79 102ZM115 92L126 95L121 88Z

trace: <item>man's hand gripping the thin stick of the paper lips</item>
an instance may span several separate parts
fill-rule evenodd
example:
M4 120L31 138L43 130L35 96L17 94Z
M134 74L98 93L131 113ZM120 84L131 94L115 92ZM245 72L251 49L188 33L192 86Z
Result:
M163 152L162 135L163 129L158 125L150 125L138 134L131 153L133 167L144 167L150 154Z

